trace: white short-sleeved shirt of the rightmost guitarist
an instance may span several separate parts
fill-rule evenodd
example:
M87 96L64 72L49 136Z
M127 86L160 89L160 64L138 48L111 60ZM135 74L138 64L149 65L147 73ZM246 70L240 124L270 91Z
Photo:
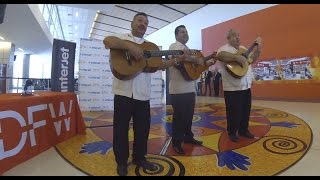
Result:
M244 46L240 46L240 48L246 49ZM230 44L225 44L220 47L217 51L217 54L221 51L229 52L232 54L236 54L238 50L231 46ZM239 91L246 90L251 88L252 84L252 69L251 65L248 67L247 73L240 79L234 78L230 75L226 70L226 64L224 62L219 61L221 76L222 76L222 86L224 91Z

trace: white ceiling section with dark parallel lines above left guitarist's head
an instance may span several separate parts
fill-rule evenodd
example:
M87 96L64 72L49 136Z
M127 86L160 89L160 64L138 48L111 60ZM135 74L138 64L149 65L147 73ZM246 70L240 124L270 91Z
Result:
M102 40L114 33L131 31L131 21L138 12L148 14L146 36L196 11L206 4L115 4L109 11L97 12L90 37Z

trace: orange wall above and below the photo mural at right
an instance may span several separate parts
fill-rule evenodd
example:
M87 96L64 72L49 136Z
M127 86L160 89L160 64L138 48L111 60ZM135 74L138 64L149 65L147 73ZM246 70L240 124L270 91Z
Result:
M226 32L233 28L239 31L241 44L247 47L257 36L262 37L263 47L259 61L319 55L319 22L319 4L273 6L203 29L203 53L207 55L213 50L218 50L227 42ZM286 84L286 88L283 88L280 81L254 83L253 96L283 98L283 94L285 94L285 99L306 100L305 95L308 94L307 99L320 100L320 93L309 94L310 89L313 92L320 92L319 81L309 81L308 83L302 81L294 81L295 83L281 81ZM293 89L297 89L297 91Z

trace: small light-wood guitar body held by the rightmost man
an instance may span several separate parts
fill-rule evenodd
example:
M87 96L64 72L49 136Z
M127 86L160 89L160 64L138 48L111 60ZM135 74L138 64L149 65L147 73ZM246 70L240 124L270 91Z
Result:
M245 52L246 52L246 49L240 48L239 51L237 52L237 54L238 55L242 55ZM249 67L249 63L251 63L250 61L251 61L251 59L249 59L248 62L243 67L240 64L236 63L236 62L226 63L226 70L234 78L241 78L247 73L248 67Z

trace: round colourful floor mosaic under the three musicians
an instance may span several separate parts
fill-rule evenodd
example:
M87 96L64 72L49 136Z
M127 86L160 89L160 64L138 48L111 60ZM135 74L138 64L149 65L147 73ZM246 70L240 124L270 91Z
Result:
M183 144L186 155L171 145L172 108L151 109L147 159L156 171L138 168L128 160L128 175L217 176L276 175L299 161L309 150L312 131L300 118L275 109L252 107L249 130L254 139L229 140L223 104L197 104L192 131L202 146ZM117 175L112 150L112 112L83 112L87 135L56 146L73 166L88 175ZM132 127L130 125L130 127ZM129 130L132 148L133 131ZM132 152L130 152L132 153Z

